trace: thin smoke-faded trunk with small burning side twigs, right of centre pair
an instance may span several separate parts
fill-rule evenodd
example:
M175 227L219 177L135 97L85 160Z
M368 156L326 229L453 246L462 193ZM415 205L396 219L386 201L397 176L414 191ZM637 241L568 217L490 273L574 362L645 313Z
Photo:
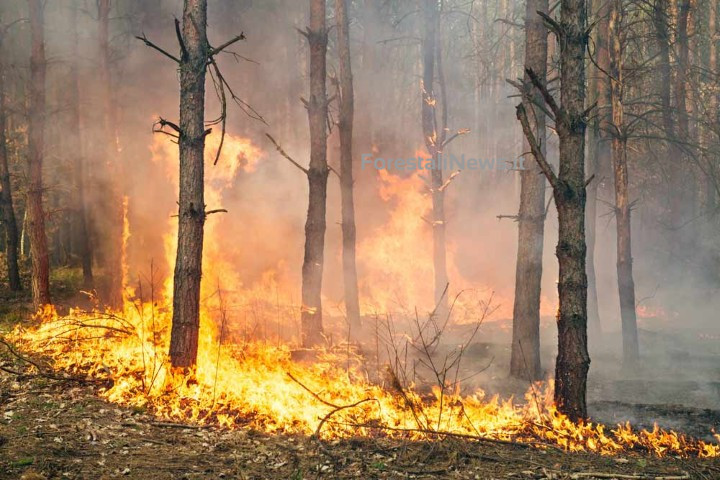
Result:
M433 85L435 82L435 60L440 60L437 39L439 12L436 0L424 0L423 8L424 31L422 38L423 84L422 84L422 128L425 146L433 157L434 168L431 170L431 189L433 205L433 270L436 313L447 311L447 260L445 251L445 192L443 171L440 165L443 143L445 141L446 114L443 113L443 128L437 124L437 98ZM438 61L438 70L440 62ZM440 73L440 72L438 72ZM441 87L442 88L442 87ZM443 109L446 103L443 102ZM443 110L445 112L445 110ZM438 131L439 130L439 131Z

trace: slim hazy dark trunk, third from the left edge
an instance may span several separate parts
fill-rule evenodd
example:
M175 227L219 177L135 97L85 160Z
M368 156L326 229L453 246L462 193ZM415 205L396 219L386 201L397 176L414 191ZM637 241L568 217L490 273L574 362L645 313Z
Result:
M73 229L72 244L80 257L80 264L83 270L83 287L93 287L92 274L92 250L87 228L87 213L85 204L85 158L83 156L82 140L80 133L80 79L78 75L78 51L77 51L77 7L71 7L70 13L72 52L70 60L70 81L68 86L68 103L70 105L70 119L68 143L73 155Z

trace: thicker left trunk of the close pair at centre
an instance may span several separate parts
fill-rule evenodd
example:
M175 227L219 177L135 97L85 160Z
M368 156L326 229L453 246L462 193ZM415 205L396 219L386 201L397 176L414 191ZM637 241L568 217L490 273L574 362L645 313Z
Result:
M310 0L310 28L306 35L310 45L310 167L307 172L309 202L302 268L301 325L302 344L311 347L324 342L321 294L328 177L325 0Z

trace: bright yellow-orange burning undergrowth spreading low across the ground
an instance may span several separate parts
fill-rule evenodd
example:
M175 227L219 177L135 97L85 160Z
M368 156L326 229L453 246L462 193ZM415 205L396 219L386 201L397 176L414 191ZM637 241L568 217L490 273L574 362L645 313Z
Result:
M533 386L525 402L514 402L482 391L461 395L444 377L430 388L404 385L390 368L384 381L371 380L366 362L348 348L314 351L312 361L299 361L287 344L235 341L225 319L207 313L196 370L173 373L165 353L170 318L168 309L140 302L128 302L124 313L60 316L47 309L37 326L17 327L7 339L59 371L98 380L101 396L112 402L179 422L321 438L455 436L608 455L720 456L717 444L657 427L574 424L554 408L550 385Z

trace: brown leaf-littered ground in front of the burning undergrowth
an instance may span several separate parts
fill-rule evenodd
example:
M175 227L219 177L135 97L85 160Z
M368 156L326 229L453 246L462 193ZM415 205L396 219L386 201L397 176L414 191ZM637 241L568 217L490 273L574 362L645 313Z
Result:
M56 283L62 292L63 282ZM30 312L23 297L0 295L2 334L27 322ZM3 345L0 365L23 371ZM609 457L449 438L320 442L300 435L166 423L142 409L109 403L96 395L95 388L0 371L0 479L720 478L717 459L660 459L635 453ZM622 407L604 405L608 412ZM718 419L717 412L652 408L658 410L653 415L684 417L686 424L705 429Z

